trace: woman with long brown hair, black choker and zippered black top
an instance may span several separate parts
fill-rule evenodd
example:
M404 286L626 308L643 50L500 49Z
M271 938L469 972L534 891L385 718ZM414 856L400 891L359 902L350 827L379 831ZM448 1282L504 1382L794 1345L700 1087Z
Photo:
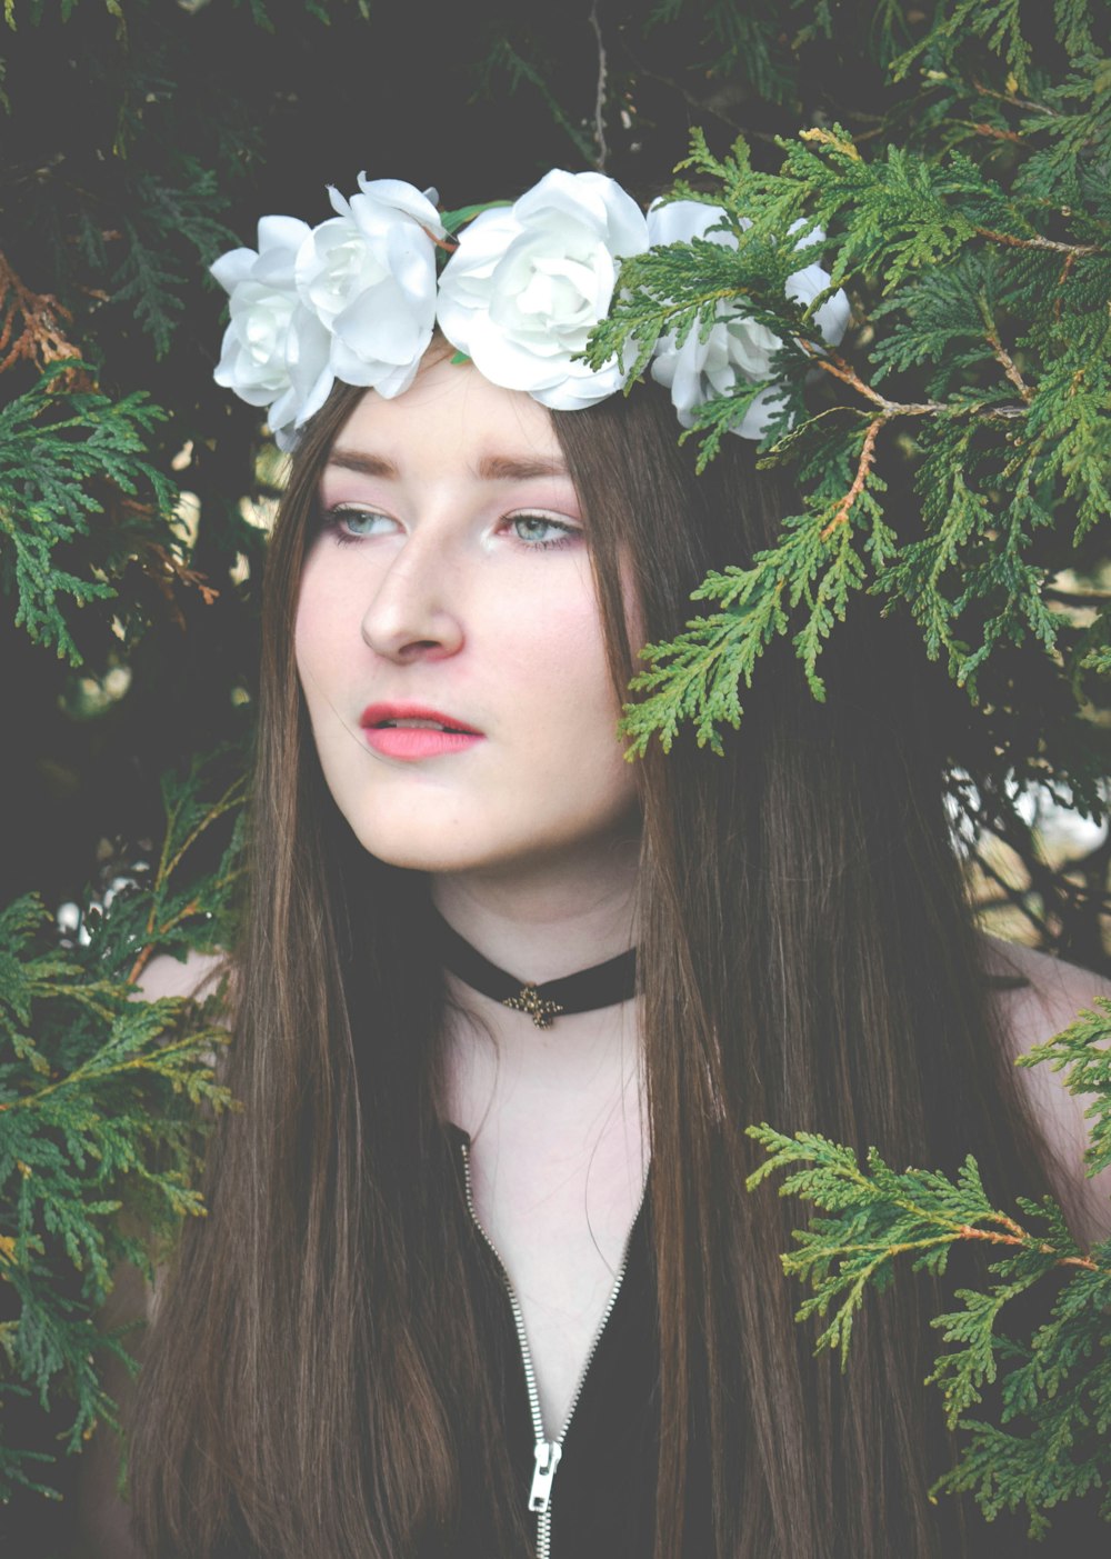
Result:
M145 1349L134 1551L991 1551L926 1494L929 1285L866 1306L845 1377L815 1361L743 1127L974 1149L997 1199L1052 1183L1092 1235L1080 1105L1010 1062L1099 982L974 931L946 700L890 627L835 636L823 706L770 652L723 758L625 762L636 649L790 496L742 440L695 479L659 387L583 404L580 376L548 410L566 387L506 387L458 335L471 363L419 338L379 388L299 391L243 1112Z

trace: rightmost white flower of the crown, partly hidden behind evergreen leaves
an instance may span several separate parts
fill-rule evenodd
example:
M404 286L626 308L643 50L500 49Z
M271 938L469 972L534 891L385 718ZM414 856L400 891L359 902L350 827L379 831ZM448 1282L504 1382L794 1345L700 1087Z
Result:
M737 246L737 240L728 229L707 232L714 223L720 221L725 212L717 206L704 206L701 201L672 201L664 206L654 203L648 212L648 234L656 243L690 242L690 239L707 239L711 243L721 243L729 248ZM751 226L742 218L743 226ZM793 223L792 232L802 226ZM799 240L798 248L820 239L820 229L812 229ZM787 278L787 296L796 302L809 304L820 292L829 285L829 271L821 265L804 265ZM813 315L823 338L831 345L845 335L849 323L849 301L838 288L832 298ZM756 320L746 318L732 302L721 301L717 306L717 323L711 327L707 338L700 340L695 326L682 346L672 331L664 335L656 346L651 363L651 376L658 384L667 385L672 391L672 402L684 427L693 424L695 408L714 396L729 394L739 380L757 384L771 374L771 357L782 346L781 337ZM784 402L782 390L770 385L762 390L748 405L745 415L731 427L731 432L742 438L764 438L764 433Z

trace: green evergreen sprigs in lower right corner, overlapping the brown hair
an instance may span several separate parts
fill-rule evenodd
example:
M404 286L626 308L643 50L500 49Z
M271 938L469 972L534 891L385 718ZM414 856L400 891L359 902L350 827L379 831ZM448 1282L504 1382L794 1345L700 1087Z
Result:
M1072 1093L1092 1093L1088 1172L1111 1163L1111 1001L1097 999L1056 1038L1036 1046L1024 1065L1066 1071ZM955 1465L933 1494L972 1494L983 1515L1024 1509L1032 1537L1050 1529L1049 1512L1092 1489L1111 1489L1111 1239L1081 1250L1061 1210L1021 1199L1014 1216L989 1199L969 1155L952 1177L938 1171L891 1169L871 1149L857 1155L812 1132L785 1137L770 1126L748 1129L767 1158L749 1190L785 1169L781 1196L820 1210L796 1232L784 1271L812 1292L799 1320L820 1317L818 1350L848 1364L852 1322L871 1285L882 1292L896 1264L944 1274L954 1247L982 1244L997 1255L982 1288L958 1288L960 1308L933 1320L944 1352L927 1384L941 1391L946 1422L960 1433ZM1056 1277L1047 1319L1030 1338L1002 1330L1013 1302ZM979 1416L988 1386L999 1386L999 1412ZM1111 1520L1111 1492L1102 1514Z

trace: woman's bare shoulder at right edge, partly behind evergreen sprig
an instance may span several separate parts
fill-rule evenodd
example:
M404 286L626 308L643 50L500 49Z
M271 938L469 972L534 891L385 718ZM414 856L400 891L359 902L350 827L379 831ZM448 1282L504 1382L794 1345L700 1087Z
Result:
M1060 1034L1083 1007L1092 1006L1095 996L1111 998L1111 982L1091 970L997 937L985 937L983 946L991 974L1022 982L996 993L1011 1059ZM1077 1233L1092 1243L1106 1239L1111 1236L1111 1171L1089 1180L1083 1166L1085 1110L1091 1096L1069 1093L1063 1074L1049 1066L1024 1066L1019 1079L1058 1166L1055 1190L1070 1210Z

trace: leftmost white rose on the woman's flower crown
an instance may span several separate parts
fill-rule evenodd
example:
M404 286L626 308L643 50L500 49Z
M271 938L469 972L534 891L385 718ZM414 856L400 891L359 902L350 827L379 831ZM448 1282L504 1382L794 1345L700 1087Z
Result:
M307 224L295 217L263 217L257 251L232 249L212 265L231 309L213 377L248 405L270 407L282 449L324 404L333 379L327 331L301 306L293 282L307 235Z

